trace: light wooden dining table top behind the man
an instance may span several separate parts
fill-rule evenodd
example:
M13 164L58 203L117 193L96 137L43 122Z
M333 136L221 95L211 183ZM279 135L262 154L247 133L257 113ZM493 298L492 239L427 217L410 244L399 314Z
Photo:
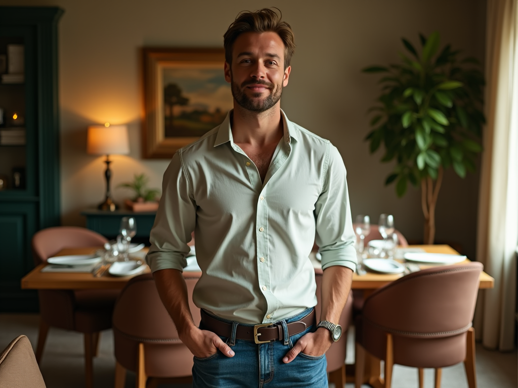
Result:
M430 253L451 253L456 254L457 252L448 245L412 245L410 247L422 248L426 252ZM90 247L90 248L65 248L62 249L56 256L65 256L65 255L88 255L90 253L95 252L100 247ZM458 263L463 264L469 262L466 259L465 262ZM458 265L452 264L452 265ZM111 276L108 273L105 275L95 278L90 273L70 273L70 272L45 272L42 273L41 269L45 267L46 264L40 264L30 273L25 275L21 280L22 289L61 289L61 290L77 290L77 289L122 289L126 282L132 276ZM426 268L429 266L420 265L421 268ZM149 268L143 273L149 273ZM136 276L136 275L134 275ZM403 276L403 274L396 275L385 275L385 274L375 274L367 272L366 275L358 276L357 274L353 275L352 288L353 289L363 289L363 290L374 290L380 287L385 286L387 283L394 281ZM485 272L482 272L480 275L480 285L479 288L493 288L494 287L494 279L487 275Z

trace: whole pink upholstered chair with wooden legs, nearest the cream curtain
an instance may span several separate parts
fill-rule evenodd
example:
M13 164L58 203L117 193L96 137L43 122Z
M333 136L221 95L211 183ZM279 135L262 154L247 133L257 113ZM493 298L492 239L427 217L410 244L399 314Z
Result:
M385 361L380 380L385 388L391 386L394 364L419 368L421 388L423 368L434 368L439 388L441 368L459 362L464 362L469 387L475 388L471 321L482 268L477 262L428 268L367 297L355 321L356 388L362 384L365 352Z

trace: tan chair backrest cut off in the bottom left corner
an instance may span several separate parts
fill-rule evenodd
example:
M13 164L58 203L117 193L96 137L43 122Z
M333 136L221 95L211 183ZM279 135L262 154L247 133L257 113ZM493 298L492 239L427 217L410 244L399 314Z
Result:
M31 342L24 335L13 339L0 354L0 386L46 388Z

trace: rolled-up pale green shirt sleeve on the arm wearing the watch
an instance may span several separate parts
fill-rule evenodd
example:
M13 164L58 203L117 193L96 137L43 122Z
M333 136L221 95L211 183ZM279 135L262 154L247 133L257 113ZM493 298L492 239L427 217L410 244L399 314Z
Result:
M322 269L342 265L356 269L356 250L346 167L337 148L329 144L322 192L315 204L315 241L322 255Z

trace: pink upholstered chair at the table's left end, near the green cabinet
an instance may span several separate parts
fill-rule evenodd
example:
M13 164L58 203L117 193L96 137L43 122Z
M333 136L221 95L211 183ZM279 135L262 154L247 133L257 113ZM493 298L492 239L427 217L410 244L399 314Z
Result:
M85 228L55 227L33 236L34 264L47 261L64 248L102 247L102 235ZM84 334L85 380L93 386L93 356L97 354L99 332L110 329L113 305L119 290L39 290L40 325L36 361L41 362L49 327Z

